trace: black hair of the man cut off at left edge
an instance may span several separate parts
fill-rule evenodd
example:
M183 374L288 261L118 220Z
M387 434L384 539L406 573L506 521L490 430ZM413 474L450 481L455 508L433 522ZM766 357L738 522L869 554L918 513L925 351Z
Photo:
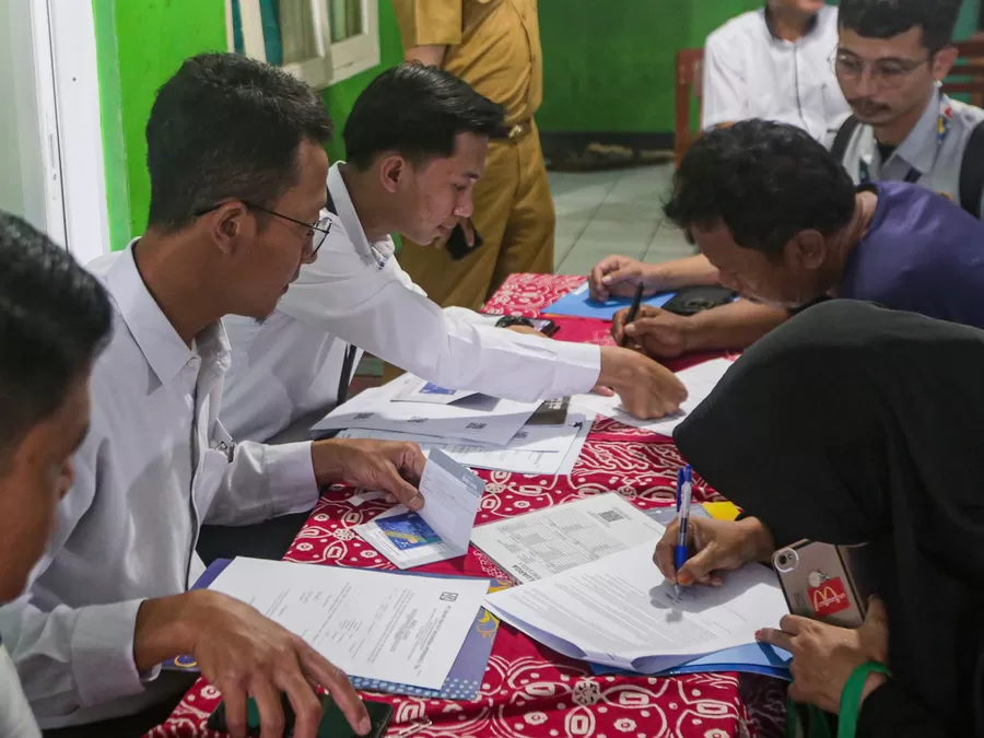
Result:
M112 316L95 277L0 212L0 464L89 371Z

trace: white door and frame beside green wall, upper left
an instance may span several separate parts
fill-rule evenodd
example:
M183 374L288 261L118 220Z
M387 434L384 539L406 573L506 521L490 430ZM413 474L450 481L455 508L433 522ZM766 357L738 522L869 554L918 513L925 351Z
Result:
M91 2L0 0L0 209L83 263L109 250L97 74Z

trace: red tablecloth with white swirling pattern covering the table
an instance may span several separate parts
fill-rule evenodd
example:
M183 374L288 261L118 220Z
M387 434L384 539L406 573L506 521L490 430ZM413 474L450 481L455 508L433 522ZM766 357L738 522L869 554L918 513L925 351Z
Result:
M583 282L579 277L514 274L487 312L536 316ZM559 318L559 340L610 342L600 320ZM691 363L691 362L688 362ZM487 493L477 524L550 507L577 497L617 491L640 507L670 504L681 459L665 437L599 419L570 477L528 477L482 471ZM352 528L385 507L348 504L351 491L326 493L286 559L305 563L393 569ZM694 495L719 499L701 479ZM426 571L506 578L480 552L423 567ZM514 629L499 629L485 681L472 702L373 695L393 703L390 735L427 717L419 738L765 738L782 733L785 688L763 677L704 673L671 679L595 677L583 663L564 658ZM203 680L188 692L168 721L149 734L212 736L204 729L219 704L218 690Z

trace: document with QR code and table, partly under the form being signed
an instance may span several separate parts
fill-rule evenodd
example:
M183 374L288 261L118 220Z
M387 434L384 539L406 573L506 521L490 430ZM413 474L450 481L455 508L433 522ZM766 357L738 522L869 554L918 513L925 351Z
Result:
M513 500L513 506L522 499ZM666 528L608 492L479 526L471 542L523 584L619 553L637 543L653 548Z

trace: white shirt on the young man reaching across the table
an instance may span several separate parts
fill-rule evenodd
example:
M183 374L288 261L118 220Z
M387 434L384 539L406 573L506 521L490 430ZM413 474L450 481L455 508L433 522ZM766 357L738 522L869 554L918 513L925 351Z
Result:
M400 268L391 238L366 239L339 164L328 189L338 216L277 312L262 325L224 319L233 361L222 422L234 437L267 440L313 410L329 410L345 343L442 387L511 400L595 386L597 345L520 336L472 311L442 311Z

